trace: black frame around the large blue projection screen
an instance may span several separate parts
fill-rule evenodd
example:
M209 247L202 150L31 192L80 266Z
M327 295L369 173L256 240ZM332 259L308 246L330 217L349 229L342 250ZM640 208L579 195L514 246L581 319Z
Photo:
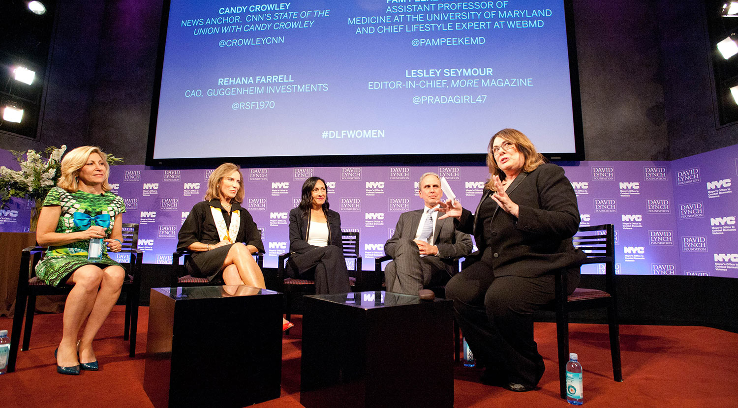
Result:
M584 160L584 127L582 122L582 98L579 94L579 63L576 56L573 0L562 0L564 5L567 48L569 58L569 78L571 89L572 120L574 131L573 153L542 153L552 162L579 162ZM215 167L224 162L233 162L244 167L294 167L294 166L336 166L336 165L413 165L429 162L428 154L357 154L325 156L223 156L223 157L182 157L174 159L155 159L156 123L159 113L159 97L162 89L164 54L171 0L164 0L162 21L159 30L159 51L156 55L154 94L151 100L151 116L148 128L145 165L151 167ZM492 136L492 134L490 134ZM480 146L483 151L485 146ZM485 162L486 153L438 153L432 162L453 165L479 165Z

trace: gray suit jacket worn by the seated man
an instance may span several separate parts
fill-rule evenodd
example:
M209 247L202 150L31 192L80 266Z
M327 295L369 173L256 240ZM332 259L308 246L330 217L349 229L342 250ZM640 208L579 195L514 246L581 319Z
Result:
M401 238L415 238L418 231L423 210L403 212L397 221L395 233L384 243L384 253L395 257L395 248ZM435 222L433 244L438 246L438 256L444 263L452 265L454 258L465 257L472 252L472 237L469 234L457 231L453 218L445 218Z

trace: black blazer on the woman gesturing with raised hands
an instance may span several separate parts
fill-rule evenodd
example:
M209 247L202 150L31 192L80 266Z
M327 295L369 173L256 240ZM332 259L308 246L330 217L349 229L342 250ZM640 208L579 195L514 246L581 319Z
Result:
M579 207L564 169L540 165L520 173L506 192L520 206L517 218L497 207L491 218L475 218L464 209L455 220L457 229L474 234L481 260L494 276L540 277L557 269L578 274L585 255L571 237L579 228ZM489 195L485 189L475 213L484 200L492 200ZM485 236L483 223L491 223L491 236Z

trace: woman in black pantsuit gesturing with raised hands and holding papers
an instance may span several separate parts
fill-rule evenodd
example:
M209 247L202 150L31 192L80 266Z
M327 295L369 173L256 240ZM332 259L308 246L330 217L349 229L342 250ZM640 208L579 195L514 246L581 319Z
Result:
M489 141L485 185L475 214L458 201L440 209L456 228L473 234L476 262L453 277L446 297L475 359L482 381L512 391L533 390L545 366L533 338L533 312L554 300L554 273L579 283L571 237L579 227L576 195L562 167L546 163L525 134L503 129Z

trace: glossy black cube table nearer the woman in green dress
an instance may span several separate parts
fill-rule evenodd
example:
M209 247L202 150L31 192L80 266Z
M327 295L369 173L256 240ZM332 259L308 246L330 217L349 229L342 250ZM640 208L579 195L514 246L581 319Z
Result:
M250 286L152 288L144 390L155 407L244 407L280 396L282 301Z

